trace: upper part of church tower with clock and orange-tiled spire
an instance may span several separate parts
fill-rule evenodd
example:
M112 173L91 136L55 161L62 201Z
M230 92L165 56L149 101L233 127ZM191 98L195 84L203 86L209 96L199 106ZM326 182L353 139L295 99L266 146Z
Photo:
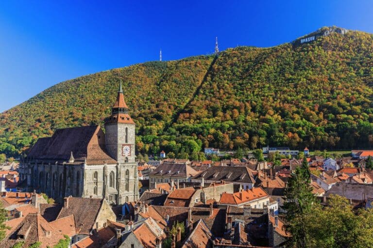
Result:
M124 102L122 83L111 116L105 123L106 149L118 163L135 162L135 123Z

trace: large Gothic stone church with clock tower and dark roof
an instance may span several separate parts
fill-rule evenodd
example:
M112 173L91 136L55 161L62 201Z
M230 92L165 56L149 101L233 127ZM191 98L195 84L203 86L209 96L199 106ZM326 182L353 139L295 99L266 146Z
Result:
M138 200L135 122L122 85L104 124L58 129L40 138L19 165L29 190L64 197L105 198L111 204Z

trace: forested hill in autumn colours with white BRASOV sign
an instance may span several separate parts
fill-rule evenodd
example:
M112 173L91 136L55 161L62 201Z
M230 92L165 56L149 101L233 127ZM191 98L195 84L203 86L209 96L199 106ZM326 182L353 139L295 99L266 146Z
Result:
M146 62L68 80L0 115L0 153L18 156L57 128L103 124L119 81L141 153L193 158L203 147L267 143L371 147L372 56L372 34L323 28L277 47L236 47L218 57Z

